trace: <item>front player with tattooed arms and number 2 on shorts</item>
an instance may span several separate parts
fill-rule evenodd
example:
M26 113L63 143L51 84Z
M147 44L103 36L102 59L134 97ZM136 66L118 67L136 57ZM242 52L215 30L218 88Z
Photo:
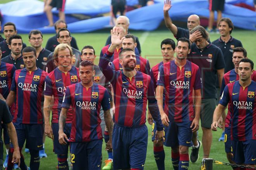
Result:
M106 150L112 150L111 134L113 121L110 114L108 90L93 82L92 61L82 61L79 66L80 83L70 85L62 103L59 118L59 142L66 145L70 142L71 165L73 170L100 170L102 129L100 127L100 109L104 110L104 119L109 130L110 139ZM67 110L73 108L73 119L70 137L63 132Z

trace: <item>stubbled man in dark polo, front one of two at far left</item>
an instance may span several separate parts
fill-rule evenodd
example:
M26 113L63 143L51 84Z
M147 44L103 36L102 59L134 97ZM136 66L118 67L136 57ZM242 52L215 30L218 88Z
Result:
M22 38L19 35L13 35L9 38L9 49L10 54L5 58L2 58L1 61L5 63L13 64L17 70L22 69L25 67L21 50L22 50ZM1 47L2 48L2 47ZM2 50L3 51L3 50Z

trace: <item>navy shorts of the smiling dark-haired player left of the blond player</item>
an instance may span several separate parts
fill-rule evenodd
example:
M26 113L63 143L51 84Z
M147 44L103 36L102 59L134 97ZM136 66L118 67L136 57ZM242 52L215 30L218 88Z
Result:
M42 150L43 148L43 124L14 123L19 148L25 147L29 150ZM13 148L12 144L10 146Z

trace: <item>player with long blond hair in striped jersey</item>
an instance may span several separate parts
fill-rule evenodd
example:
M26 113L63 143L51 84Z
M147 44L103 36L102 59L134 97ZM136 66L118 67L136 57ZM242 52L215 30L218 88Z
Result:
M68 170L67 154L68 144L61 145L59 143L59 115L61 113L61 104L67 86L80 82L78 68L71 65L72 49L67 44L59 44L54 49L54 60L57 63L55 68L45 80L45 101L44 101L44 117L45 117L45 135L53 139L54 152L58 157L58 168ZM54 104L51 108L52 97ZM52 110L52 126L50 126L50 110ZM73 109L70 107L67 112L67 120L64 126L64 133L69 134L71 131L71 122L73 117Z

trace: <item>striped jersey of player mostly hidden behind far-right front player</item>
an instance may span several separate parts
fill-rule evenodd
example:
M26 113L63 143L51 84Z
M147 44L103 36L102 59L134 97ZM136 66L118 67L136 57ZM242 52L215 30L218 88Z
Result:
M251 75L251 79L253 81L256 81L256 71L253 71L253 74ZM229 83L233 83L236 80L239 80L239 75L235 72L235 69L228 71L222 79L222 84L221 84L221 89L220 89L220 95L222 95L223 90L225 88L225 86ZM230 104L228 104L228 107L230 107ZM226 128L230 128L231 124L230 124L230 118L231 118L231 113L230 110L228 109L228 113L225 119L225 127Z

